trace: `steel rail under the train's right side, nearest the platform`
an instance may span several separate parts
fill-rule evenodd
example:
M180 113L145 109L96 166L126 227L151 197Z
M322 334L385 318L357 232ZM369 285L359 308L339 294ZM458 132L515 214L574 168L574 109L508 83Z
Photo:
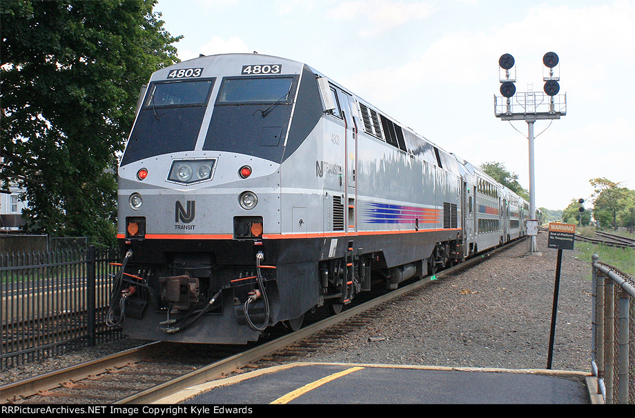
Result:
M384 303L391 299L395 299L396 297L410 292L411 290L426 286L431 281L447 277L458 270L462 270L464 268L472 266L473 264L484 260L485 257L488 257L489 255L492 255L501 250L505 250L510 246L522 241L525 240L520 239L518 241L511 241L498 248L494 248L494 250L482 252L480 255L477 255L476 257L473 257L471 259L467 259L466 261L457 264L456 266L453 266L446 270L442 270L436 275L424 277L423 279L410 283L409 285L402 288L391 290L387 294L376 297L370 301L360 304L359 306L343 310L338 315L323 319L322 321L311 324L310 326L306 326L305 328L300 328L300 330L285 335L284 337L275 339L274 341L263 344L262 346L257 346L255 348L252 348L251 350L241 352L240 354L233 355L231 357L227 357L226 359L222 359L221 361L216 361L213 364L209 364L208 366L204 366L202 368L194 370L193 372L189 372L186 375L177 377L176 379L165 382L164 384L159 384L158 386L155 386L153 388L148 388L146 390L138 392L135 395L130 395L129 397L126 397L124 399L119 399L118 401L113 402L113 404L152 404L153 402L161 401L161 399L164 399L165 397L174 395L180 390L185 390L192 386L203 384L206 381L213 381L219 377L222 377L222 375L224 374L247 366L253 361L262 359L262 357L271 355L277 350L290 346L291 344L295 344L298 341L302 341L307 337L311 337L311 335L314 335L321 330L330 328L331 326L339 324L342 321L346 321L346 319L354 317L355 315L359 315L361 312L364 312L371 308L375 308L375 306L378 306L381 303Z

